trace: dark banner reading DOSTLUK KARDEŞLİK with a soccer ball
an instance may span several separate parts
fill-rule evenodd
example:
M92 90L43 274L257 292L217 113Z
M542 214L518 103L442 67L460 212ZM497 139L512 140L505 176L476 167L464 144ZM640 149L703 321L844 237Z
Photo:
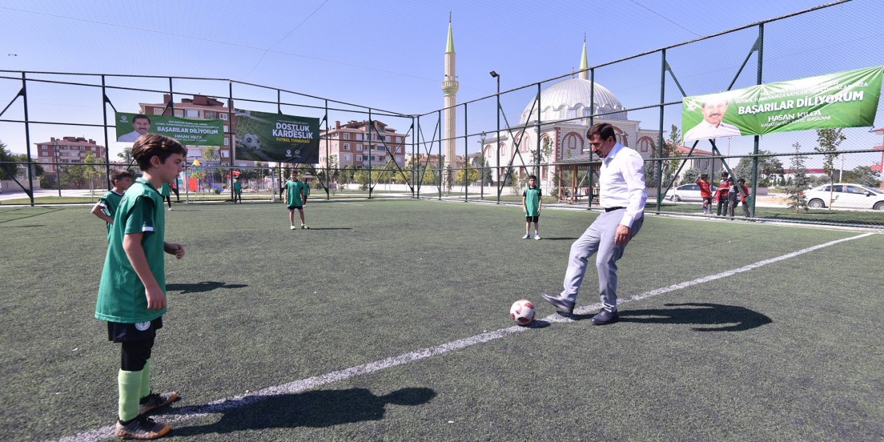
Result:
M319 118L237 109L236 159L319 163Z

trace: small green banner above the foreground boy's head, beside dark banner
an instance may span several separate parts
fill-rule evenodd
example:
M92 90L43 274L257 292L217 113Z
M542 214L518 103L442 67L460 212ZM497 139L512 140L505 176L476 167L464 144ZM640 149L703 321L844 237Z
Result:
M190 146L224 146L224 120L178 118L117 112L117 141L134 142L144 133L156 133Z

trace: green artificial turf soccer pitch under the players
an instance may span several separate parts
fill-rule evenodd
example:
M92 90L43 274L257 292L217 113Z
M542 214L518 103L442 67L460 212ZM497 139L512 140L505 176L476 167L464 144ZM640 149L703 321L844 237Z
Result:
M166 239L187 255L167 262L152 383L183 398L164 411L179 419L170 439L884 438L880 234L623 303L618 324L579 315L271 394L506 329L520 298L553 315L539 293L560 289L568 248L597 214L547 209L537 241L520 239L520 209L493 204L313 202L311 229L295 231L280 203L174 207ZM119 348L93 318L106 238L88 210L0 210L4 439L113 423ZM857 235L648 217L618 292ZM596 286L590 265L578 306L598 301Z

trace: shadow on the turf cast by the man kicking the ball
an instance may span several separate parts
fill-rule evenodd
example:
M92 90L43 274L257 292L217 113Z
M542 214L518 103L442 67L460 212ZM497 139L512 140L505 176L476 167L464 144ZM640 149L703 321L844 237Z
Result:
M706 302L685 302L664 304L666 307L685 309L641 309L620 310L621 323L641 324L687 324L705 325L691 327L693 331L743 331L773 323L771 318L755 310L739 306L711 304ZM575 321L589 319L593 315L572 315Z

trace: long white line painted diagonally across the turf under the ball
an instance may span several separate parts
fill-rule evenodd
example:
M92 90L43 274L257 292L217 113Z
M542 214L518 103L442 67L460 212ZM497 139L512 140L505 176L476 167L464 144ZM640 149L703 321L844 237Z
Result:
M706 276L703 278L697 278L690 281L685 281L682 283L674 284L672 286L657 288L648 292L638 293L629 297L628 299L618 301L618 304L622 304L625 302L633 302L633 301L642 301L648 298L652 298L654 296L658 296L663 293L674 292L675 290L680 290L685 287L697 286L699 284L703 284L709 281L713 281L715 279L727 278L729 276L735 275L737 273L742 273L744 271L751 271L752 269L757 269L763 265L767 265L770 263L776 263L779 261L783 261L789 258L794 258L797 255L804 255L805 253L812 252L814 250L819 250L820 248L827 248L829 246L834 246L835 244L850 241L850 240L858 240L860 238L865 238L866 236L870 236L876 233L863 233L857 236L851 236L850 238L842 238L841 240L832 240L827 243L819 244L816 246L812 246L809 248L803 248L796 252L792 252L786 255L776 256L770 259L766 259L764 261L758 261L758 263L752 263L749 265L744 265L743 267L739 267L729 271L722 271L720 273L716 273L714 275ZM594 309L599 309L601 307L601 303L595 303L588 306L583 306L579 309L574 310L575 315L583 315L589 313ZM559 314L552 314L550 316L546 316L540 321L545 321L547 323L570 323L574 322L574 319L569 317L560 316ZM276 385L264 388L263 390L259 390L257 392L249 392L248 394L240 394L237 396L232 396L230 398L214 400L205 405L193 406L193 407L184 407L179 408L175 412L169 415L162 415L160 419L161 422L164 423L177 423L181 421L185 421L187 419L193 419L194 417L202 417L206 415L210 415L212 413L219 413L227 409L231 408L239 408L250 403L253 403L257 400L263 400L266 396L275 396L278 394L291 394L297 392L305 392L316 388L321 385L331 384L334 382L342 381L344 379L348 379L350 377L357 377L361 375L367 375L369 373L373 373L375 371L389 369L391 367L396 367L397 365L402 365L408 362L420 361L422 359L426 359L431 356L435 356L437 354L448 353L453 350L460 350L461 348L466 348L470 346L474 346L476 344L481 344L483 342L488 342L493 339L503 338L504 336L508 336L514 333L518 333L520 331L528 331L530 327L520 327L518 325L513 325L512 327L507 327L504 329L499 329L496 331L488 331L485 333L477 334L475 336L470 336L469 338L457 339L451 342L447 342L445 344L436 346L436 347L427 347L422 348L420 350L415 350L410 353L398 354L396 356L392 356L386 359L382 359L380 361L369 362L362 365L357 365L355 367L350 367L349 369L331 371L329 373L325 373L323 375L308 377L306 379L301 379L298 381L290 382L288 384ZM57 439L58 442L94 442L97 440L101 440L103 438L111 438L110 431L113 431L113 426L109 425L107 427L102 427L95 430L84 431L78 433L74 436L69 436L66 438Z

